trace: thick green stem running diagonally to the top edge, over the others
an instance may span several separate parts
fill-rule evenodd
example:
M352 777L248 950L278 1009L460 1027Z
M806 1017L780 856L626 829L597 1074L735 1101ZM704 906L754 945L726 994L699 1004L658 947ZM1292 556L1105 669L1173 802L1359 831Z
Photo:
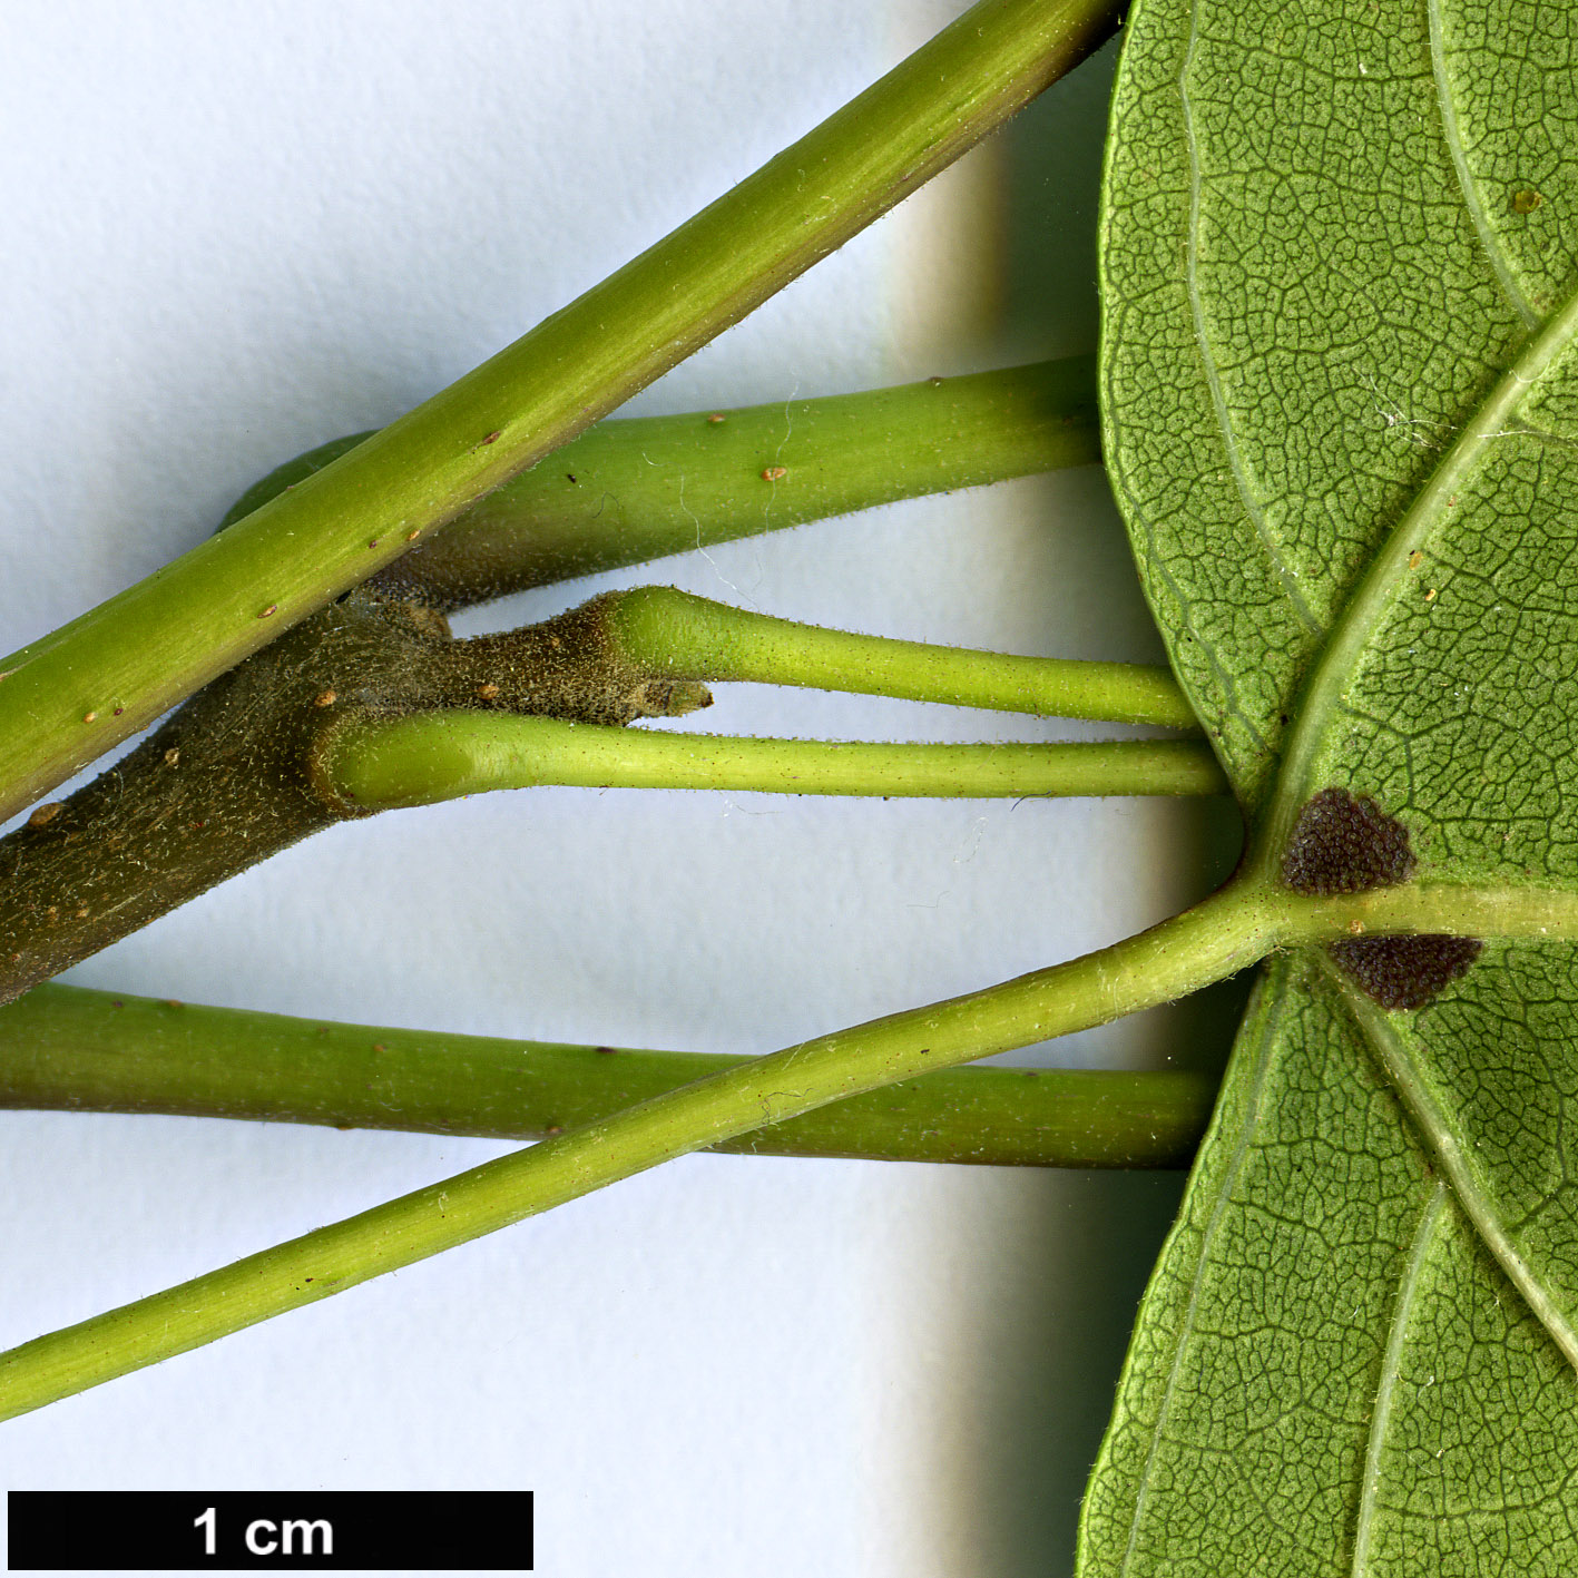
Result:
M619 273L230 530L0 660L0 819L739 322L1083 60L1112 0L982 0Z

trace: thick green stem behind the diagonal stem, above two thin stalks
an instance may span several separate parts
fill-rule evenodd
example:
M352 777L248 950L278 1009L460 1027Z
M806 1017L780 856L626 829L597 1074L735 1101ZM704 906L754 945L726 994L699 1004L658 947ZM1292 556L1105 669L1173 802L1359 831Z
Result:
M456 609L832 514L1100 459L1094 357L862 394L604 421L418 544L394 573L409 576L426 601Z

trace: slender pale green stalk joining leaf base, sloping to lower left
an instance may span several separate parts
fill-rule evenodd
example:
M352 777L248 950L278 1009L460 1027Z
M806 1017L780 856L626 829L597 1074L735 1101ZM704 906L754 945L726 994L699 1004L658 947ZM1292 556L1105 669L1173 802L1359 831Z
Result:
M1105 1024L1221 980L1275 945L1261 888L1231 887L1109 948L824 1035L472 1168L0 1354L0 1419L314 1303L764 1124Z

